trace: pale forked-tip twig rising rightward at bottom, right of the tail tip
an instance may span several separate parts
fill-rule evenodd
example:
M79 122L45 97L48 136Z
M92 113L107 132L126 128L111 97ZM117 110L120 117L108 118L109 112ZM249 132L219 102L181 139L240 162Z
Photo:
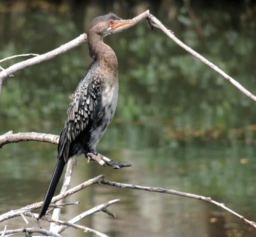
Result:
M88 216L92 215L93 213L95 213L95 212L97 212L97 211L103 211L103 210L105 210L109 205L112 205L112 204L117 203L117 202L119 202L119 201L120 201L120 199L115 199L115 200L111 200L111 201L109 201L109 202L107 202L107 203L103 203L103 204L100 204L100 205L98 205L98 206L96 206L96 207L93 207L92 209L87 210L87 211L85 211L85 212L79 214L78 216L72 218L71 220L68 221L68 223L70 223L70 224L75 224L76 222L82 220L83 218L88 217ZM112 212L112 213L113 213L113 212ZM113 215L112 215L112 216L113 216ZM115 216L115 214L114 214L114 216ZM59 229L59 231L58 231L58 233L61 233L62 231L66 230L67 228L68 228L68 226L61 226L60 229Z

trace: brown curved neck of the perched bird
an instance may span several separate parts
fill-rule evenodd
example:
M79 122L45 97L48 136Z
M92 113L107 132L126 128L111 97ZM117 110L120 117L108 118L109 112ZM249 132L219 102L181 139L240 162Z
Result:
M102 36L100 34L88 34L87 40L90 57L112 70L117 70L118 62L116 54L110 46L103 42Z

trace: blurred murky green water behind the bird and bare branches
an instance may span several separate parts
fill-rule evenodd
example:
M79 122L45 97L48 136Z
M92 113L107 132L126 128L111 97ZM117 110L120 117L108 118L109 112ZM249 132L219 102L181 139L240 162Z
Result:
M108 4L47 1L0 2L0 58L44 53L86 32L90 21L113 11L132 18L150 9L175 35L217 64L252 93L255 83L255 6L236 2L158 1ZM127 11L129 9L129 11ZM191 20L194 11L197 20ZM253 10L254 9L254 10ZM255 102L180 49L146 21L105 39L119 62L119 100L97 149L132 167L112 170L78 158L71 186L104 174L108 180L211 196L249 220L255 214ZM69 103L91 59L87 44L29 67L3 83L0 134L59 134ZM6 68L19 59L1 64ZM0 213L41 201L56 163L57 147L8 144L0 151ZM59 187L60 188L60 187ZM111 199L117 219L96 213L80 221L111 237L255 236L244 222L209 203L160 193L94 185L67 201L69 220ZM20 217L0 229L22 228ZM28 226L33 226L30 220ZM68 230L63 236L91 236ZM20 235L24 236L24 235Z

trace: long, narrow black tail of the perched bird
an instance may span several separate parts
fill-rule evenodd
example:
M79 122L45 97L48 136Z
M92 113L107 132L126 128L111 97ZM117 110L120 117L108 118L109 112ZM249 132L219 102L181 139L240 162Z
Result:
M55 167L54 172L52 174L52 179L50 181L47 193L44 197L44 202L43 202L43 205L41 207L41 210L40 210L40 213L39 213L39 216L38 216L37 220L40 219L42 216L44 216L45 212L47 211L47 208L49 207L49 205L52 201L52 197L54 195L56 186L57 186L57 184L60 180L60 176L63 172L65 164L66 163L65 163L63 157L58 159L56 167Z

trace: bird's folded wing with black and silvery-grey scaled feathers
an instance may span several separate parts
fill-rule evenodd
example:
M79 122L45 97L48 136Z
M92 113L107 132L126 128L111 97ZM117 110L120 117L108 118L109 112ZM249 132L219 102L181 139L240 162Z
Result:
M92 114L98 103L97 93L99 90L99 78L86 73L69 103L67 117L58 144L58 158L63 155L66 163L69 158L71 143L86 129L88 124L91 124Z

